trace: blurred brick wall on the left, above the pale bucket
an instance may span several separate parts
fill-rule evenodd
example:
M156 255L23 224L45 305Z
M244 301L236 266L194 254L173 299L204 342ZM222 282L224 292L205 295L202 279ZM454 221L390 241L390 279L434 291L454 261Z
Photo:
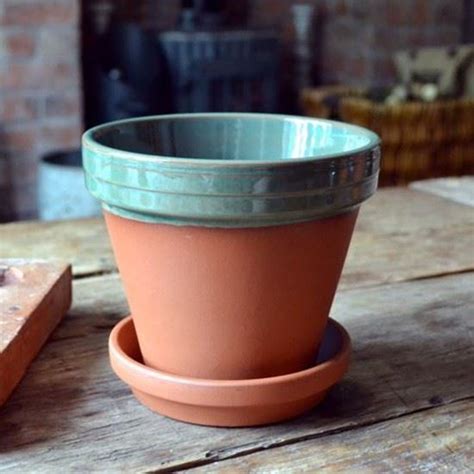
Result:
M36 215L39 157L82 128L78 0L0 0L0 220Z

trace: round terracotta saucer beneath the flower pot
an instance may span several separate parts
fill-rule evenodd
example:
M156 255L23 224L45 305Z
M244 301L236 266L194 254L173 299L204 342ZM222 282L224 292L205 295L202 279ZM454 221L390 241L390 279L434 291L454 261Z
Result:
M170 418L211 426L263 425L300 415L342 378L350 352L349 334L330 319L309 369L261 379L207 380L145 366L131 316L114 327L109 339L112 368L138 400Z

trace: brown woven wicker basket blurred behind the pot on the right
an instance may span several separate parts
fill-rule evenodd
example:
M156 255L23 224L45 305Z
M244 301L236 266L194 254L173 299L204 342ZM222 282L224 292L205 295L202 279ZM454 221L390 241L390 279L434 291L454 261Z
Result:
M319 116L315 110L317 106L305 108L308 115ZM337 118L382 138L382 186L474 174L474 99L385 105L343 97Z

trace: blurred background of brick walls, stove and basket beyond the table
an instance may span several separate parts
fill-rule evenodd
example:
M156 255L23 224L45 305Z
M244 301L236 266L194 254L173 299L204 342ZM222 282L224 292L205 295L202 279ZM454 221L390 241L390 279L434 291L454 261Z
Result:
M382 185L474 174L474 0L0 0L0 222L98 213L80 136L125 117L328 117Z

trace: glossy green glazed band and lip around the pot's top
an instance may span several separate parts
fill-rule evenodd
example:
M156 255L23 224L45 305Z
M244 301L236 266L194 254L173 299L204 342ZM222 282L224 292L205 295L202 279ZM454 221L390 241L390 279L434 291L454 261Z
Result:
M301 157L216 159L129 151L108 143L127 127L146 131L188 122L192 134L192 124L206 126L206 120L214 127L220 122L230 127L245 121L252 127L254 123L305 130L332 127L339 136L363 138L363 145L314 155L306 151ZM273 135L268 133L266 138L270 143ZM278 139L282 141L277 135ZM174 114L119 120L88 130L82 145L86 186L105 210L173 225L263 227L337 215L358 207L375 192L380 167L380 139L375 133L342 122L278 114ZM216 146L212 142L207 146L212 156L218 141ZM262 153L266 149L261 144L257 148Z

